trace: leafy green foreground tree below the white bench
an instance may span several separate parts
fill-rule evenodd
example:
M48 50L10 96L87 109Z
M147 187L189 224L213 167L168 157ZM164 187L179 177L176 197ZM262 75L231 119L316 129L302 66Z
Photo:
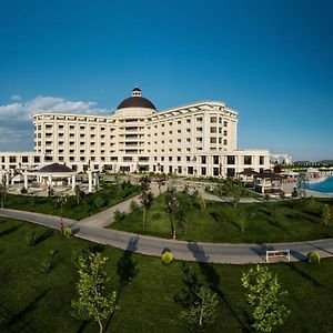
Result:
M264 265L256 265L243 273L242 284L246 301L252 306L252 326L258 332L271 332L274 326L282 325L290 310L283 304L287 292L281 291L278 275L273 275Z

